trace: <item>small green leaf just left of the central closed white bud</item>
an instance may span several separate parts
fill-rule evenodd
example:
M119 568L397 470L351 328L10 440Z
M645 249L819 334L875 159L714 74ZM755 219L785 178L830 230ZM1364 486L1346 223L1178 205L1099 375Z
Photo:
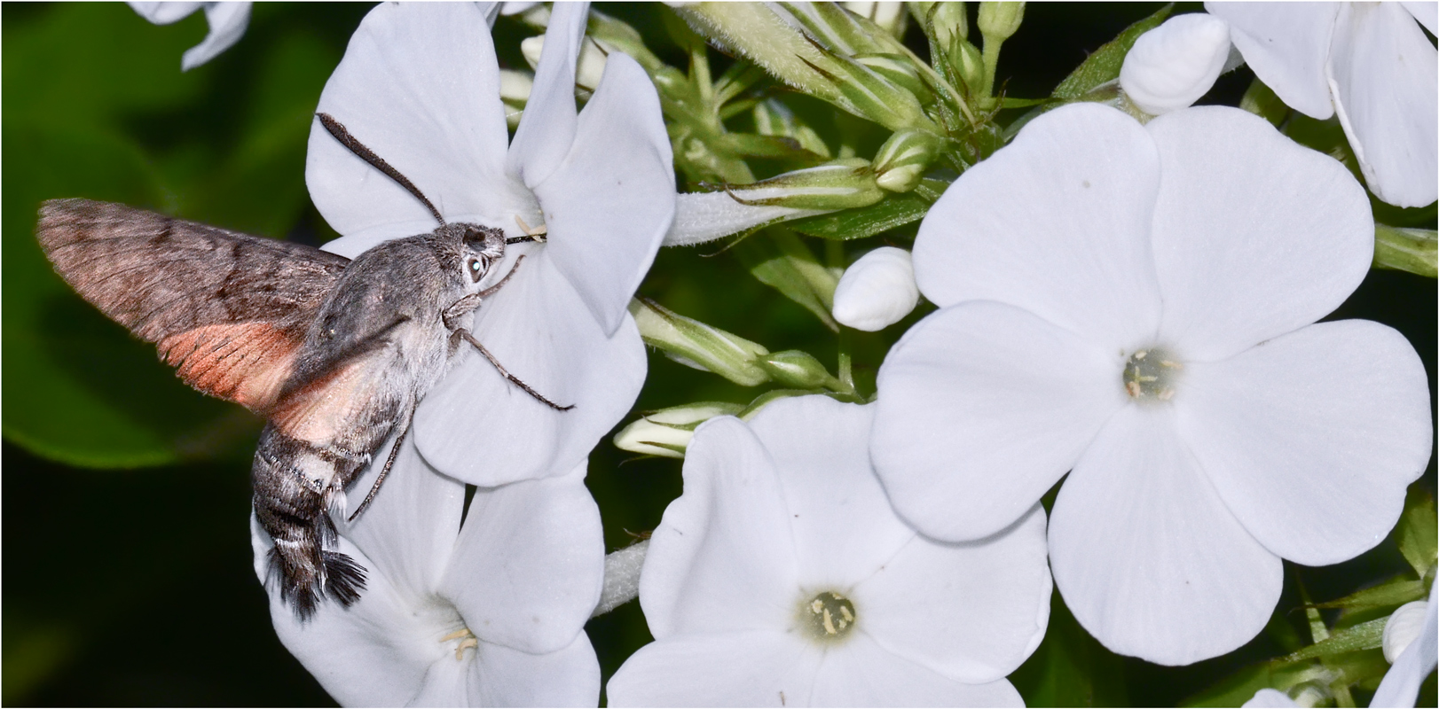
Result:
M814 314L826 328L839 332L829 314L839 276L820 265L800 237L771 227L734 246L735 255L754 278Z

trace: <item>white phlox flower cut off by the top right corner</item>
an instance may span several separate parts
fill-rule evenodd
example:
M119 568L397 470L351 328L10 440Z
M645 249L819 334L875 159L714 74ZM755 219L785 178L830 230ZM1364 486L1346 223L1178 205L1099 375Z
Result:
M1338 114L1368 188L1400 207L1439 196L1435 3L1204 3L1285 104ZM1417 20L1417 22L1416 22Z

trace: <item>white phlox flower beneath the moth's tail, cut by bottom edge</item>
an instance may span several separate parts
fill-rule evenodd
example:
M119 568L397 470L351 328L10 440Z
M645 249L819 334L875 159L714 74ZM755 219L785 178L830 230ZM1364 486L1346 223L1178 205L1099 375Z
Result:
M268 584L281 641L345 706L594 706L600 667L583 628L604 539L584 465L481 488L463 511L465 485L407 440L384 493L354 523L337 518L340 551L367 570L360 600L302 623ZM265 581L272 542L253 519L250 536Z

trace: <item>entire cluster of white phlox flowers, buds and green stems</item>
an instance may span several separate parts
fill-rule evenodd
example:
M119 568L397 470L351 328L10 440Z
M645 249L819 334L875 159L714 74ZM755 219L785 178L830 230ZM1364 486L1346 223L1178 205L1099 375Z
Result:
M200 6L132 4L157 23ZM961 4L846 4L665 9L688 73L587 3L366 16L317 114L373 155L309 134L309 196L341 234L324 249L436 220L507 246L443 378L350 489L354 511L383 480L373 506L330 512L361 597L296 618L252 525L275 630L338 702L594 706L584 626L637 597L653 641L604 685L613 706L1023 706L1009 677L1052 607L1114 653L1190 664L1282 621L1285 559L1432 531L1425 361L1387 325L1328 319L1371 266L1433 275L1433 210L1390 227L1371 206L1439 191L1432 3L1164 9L1042 99L996 79L1023 3L980 3L974 43ZM245 32L248 4L204 7L186 69ZM502 13L544 30L515 43L532 72L499 68ZM735 58L720 78L707 45ZM1242 63L1240 106L1194 105ZM837 142L790 92L846 114ZM1331 119L1341 137L1295 139ZM636 296L662 246L735 234L835 334L833 374ZM873 381L855 342L892 344L871 347ZM614 433L682 459L684 492L606 562L586 476L646 345L774 388ZM1345 616L1325 646L1308 608L1314 644L1282 662L1317 669L1246 706L1350 686L1415 703L1439 544L1399 544L1413 575L1325 605L1392 613ZM1335 669L1341 646L1368 654Z

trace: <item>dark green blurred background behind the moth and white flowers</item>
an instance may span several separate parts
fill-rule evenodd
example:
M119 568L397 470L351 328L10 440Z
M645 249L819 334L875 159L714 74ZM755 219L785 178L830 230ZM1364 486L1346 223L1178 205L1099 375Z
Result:
M1004 45L1000 79L1010 79L1010 95L1043 96L1086 52L1156 7L1030 4ZM150 345L69 293L40 256L33 226L43 198L92 197L312 244L332 239L305 193L305 139L319 91L367 10L256 4L239 45L189 73L180 72L180 55L204 36L201 14L157 27L122 4L0 10L3 703L332 703L275 639L250 571L248 477L259 421L186 388ZM662 59L684 69L662 29L659 13L668 10L603 10L639 27ZM499 22L502 63L522 66L518 43L530 33ZM924 52L914 29L909 39ZM1223 78L1206 101L1236 104L1250 78L1243 69ZM806 115L819 116L826 138L835 135L826 106L809 105ZM884 134L873 138L878 145ZM1404 219L1432 227L1433 209ZM912 236L911 226L849 243L843 257ZM754 280L734 255L715 252L661 253L642 295L833 367L829 331ZM922 312L881 334L855 334L856 364L872 377ZM1433 280L1374 272L1334 316L1402 329L1433 391L1435 312ZM758 393L652 354L636 408L748 401ZM681 492L679 462L630 457L609 442L591 456L590 488L610 548L652 529ZM1433 492L1432 463L1419 485ZM1404 568L1393 541L1337 567L1291 565L1275 626L1302 628L1295 578L1327 600ZM606 677L649 641L637 604L591 621L589 631ZM1056 594L1049 637L1013 680L1030 705L1171 705L1282 654L1284 634L1194 666L1158 667L1105 651Z

